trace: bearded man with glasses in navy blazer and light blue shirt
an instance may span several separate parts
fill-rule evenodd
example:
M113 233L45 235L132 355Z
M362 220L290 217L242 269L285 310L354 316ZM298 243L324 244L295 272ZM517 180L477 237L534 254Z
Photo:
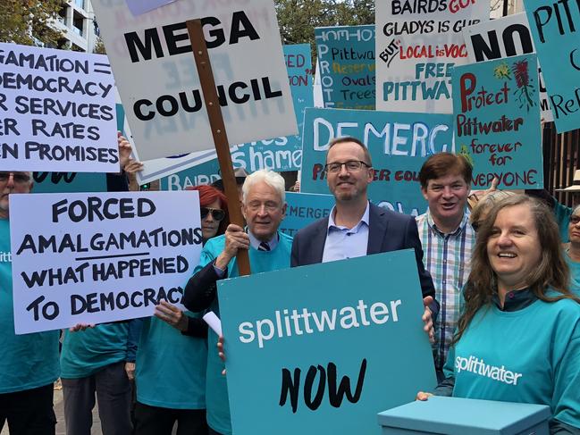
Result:
M415 218L370 204L366 195L373 180L371 156L357 138L335 138L326 155L326 180L336 204L331 215L299 230L292 243L290 266L325 263L412 247L423 292L424 330L433 339L439 312L435 289L423 264L423 248Z

